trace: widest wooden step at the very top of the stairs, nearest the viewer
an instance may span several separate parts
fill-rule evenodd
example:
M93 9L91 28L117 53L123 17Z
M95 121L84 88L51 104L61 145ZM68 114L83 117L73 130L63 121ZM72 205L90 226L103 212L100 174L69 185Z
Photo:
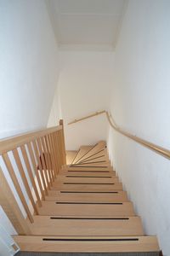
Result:
M156 236L13 236L21 251L72 253L159 252Z

